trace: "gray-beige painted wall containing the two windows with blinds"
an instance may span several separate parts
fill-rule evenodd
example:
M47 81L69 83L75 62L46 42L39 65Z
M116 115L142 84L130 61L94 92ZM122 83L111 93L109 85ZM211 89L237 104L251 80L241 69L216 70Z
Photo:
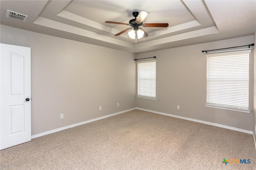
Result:
M253 130L253 53L250 55L249 108L251 113L205 107L206 57L202 50L247 45L254 36L136 54L156 56L156 100L136 98L136 107L182 117ZM177 105L180 109L177 109Z

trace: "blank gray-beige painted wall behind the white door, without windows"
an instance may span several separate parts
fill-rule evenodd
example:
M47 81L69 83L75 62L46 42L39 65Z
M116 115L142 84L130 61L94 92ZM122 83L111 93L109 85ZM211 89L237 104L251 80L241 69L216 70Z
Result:
M1 43L31 47L32 135L135 107L134 54L4 25L0 31Z

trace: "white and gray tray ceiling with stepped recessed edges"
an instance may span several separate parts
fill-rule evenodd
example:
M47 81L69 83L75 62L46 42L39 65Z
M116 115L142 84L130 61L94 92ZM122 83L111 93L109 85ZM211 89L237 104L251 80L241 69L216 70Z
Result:
M256 0L1 0L0 24L112 49L142 53L254 35ZM25 22L6 10L27 15ZM137 43L128 32L132 12L149 12L143 23L148 37Z

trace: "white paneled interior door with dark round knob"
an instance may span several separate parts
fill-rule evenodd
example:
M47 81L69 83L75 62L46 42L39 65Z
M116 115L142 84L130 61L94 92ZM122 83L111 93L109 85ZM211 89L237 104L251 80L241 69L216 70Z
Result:
M30 48L0 44L0 149L31 141Z

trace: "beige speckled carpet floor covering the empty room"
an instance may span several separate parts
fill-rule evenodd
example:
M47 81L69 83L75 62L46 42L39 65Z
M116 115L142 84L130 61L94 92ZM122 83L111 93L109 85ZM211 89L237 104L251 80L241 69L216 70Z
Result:
M141 110L0 151L1 170L256 170L250 134ZM250 159L250 164L222 160Z

